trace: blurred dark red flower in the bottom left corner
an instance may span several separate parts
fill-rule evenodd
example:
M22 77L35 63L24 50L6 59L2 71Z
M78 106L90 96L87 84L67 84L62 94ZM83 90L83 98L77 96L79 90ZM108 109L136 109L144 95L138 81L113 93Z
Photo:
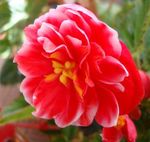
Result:
M15 137L15 127L13 124L0 126L0 142L13 140Z

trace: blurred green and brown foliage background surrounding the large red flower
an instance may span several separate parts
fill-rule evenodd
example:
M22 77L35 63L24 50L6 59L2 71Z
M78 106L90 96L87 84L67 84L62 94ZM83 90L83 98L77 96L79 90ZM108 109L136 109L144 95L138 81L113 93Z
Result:
M9 142L101 141L101 127L95 122L84 128L59 129L53 121L35 119L31 115L33 109L19 92L23 76L13 57L23 42L23 29L50 8L63 3L78 3L93 11L118 31L138 68L150 71L150 0L0 0L0 125L15 126L15 136L8 138ZM150 100L145 99L139 107L142 115L135 121L137 142L150 142Z

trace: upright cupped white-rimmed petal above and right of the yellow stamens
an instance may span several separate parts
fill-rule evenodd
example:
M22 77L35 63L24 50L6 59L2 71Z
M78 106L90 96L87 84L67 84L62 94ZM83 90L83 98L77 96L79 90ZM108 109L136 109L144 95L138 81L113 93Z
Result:
M65 20L61 24L59 31L66 37L65 42L68 50L74 59L79 62L79 66L81 66L90 52L90 45L86 34L71 20Z

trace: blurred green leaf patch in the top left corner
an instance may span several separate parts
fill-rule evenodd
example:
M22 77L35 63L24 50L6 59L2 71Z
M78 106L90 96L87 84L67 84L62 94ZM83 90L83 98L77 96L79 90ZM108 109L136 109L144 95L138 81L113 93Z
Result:
M8 2L6 0L0 1L0 28L4 26L11 17Z

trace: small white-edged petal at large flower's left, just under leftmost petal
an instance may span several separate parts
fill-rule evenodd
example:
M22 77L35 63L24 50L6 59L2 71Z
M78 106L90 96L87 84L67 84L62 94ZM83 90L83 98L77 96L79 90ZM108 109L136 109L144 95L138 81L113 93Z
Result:
M40 84L42 77L39 78L25 78L20 86L20 91L23 93L25 100L33 105L33 94Z

